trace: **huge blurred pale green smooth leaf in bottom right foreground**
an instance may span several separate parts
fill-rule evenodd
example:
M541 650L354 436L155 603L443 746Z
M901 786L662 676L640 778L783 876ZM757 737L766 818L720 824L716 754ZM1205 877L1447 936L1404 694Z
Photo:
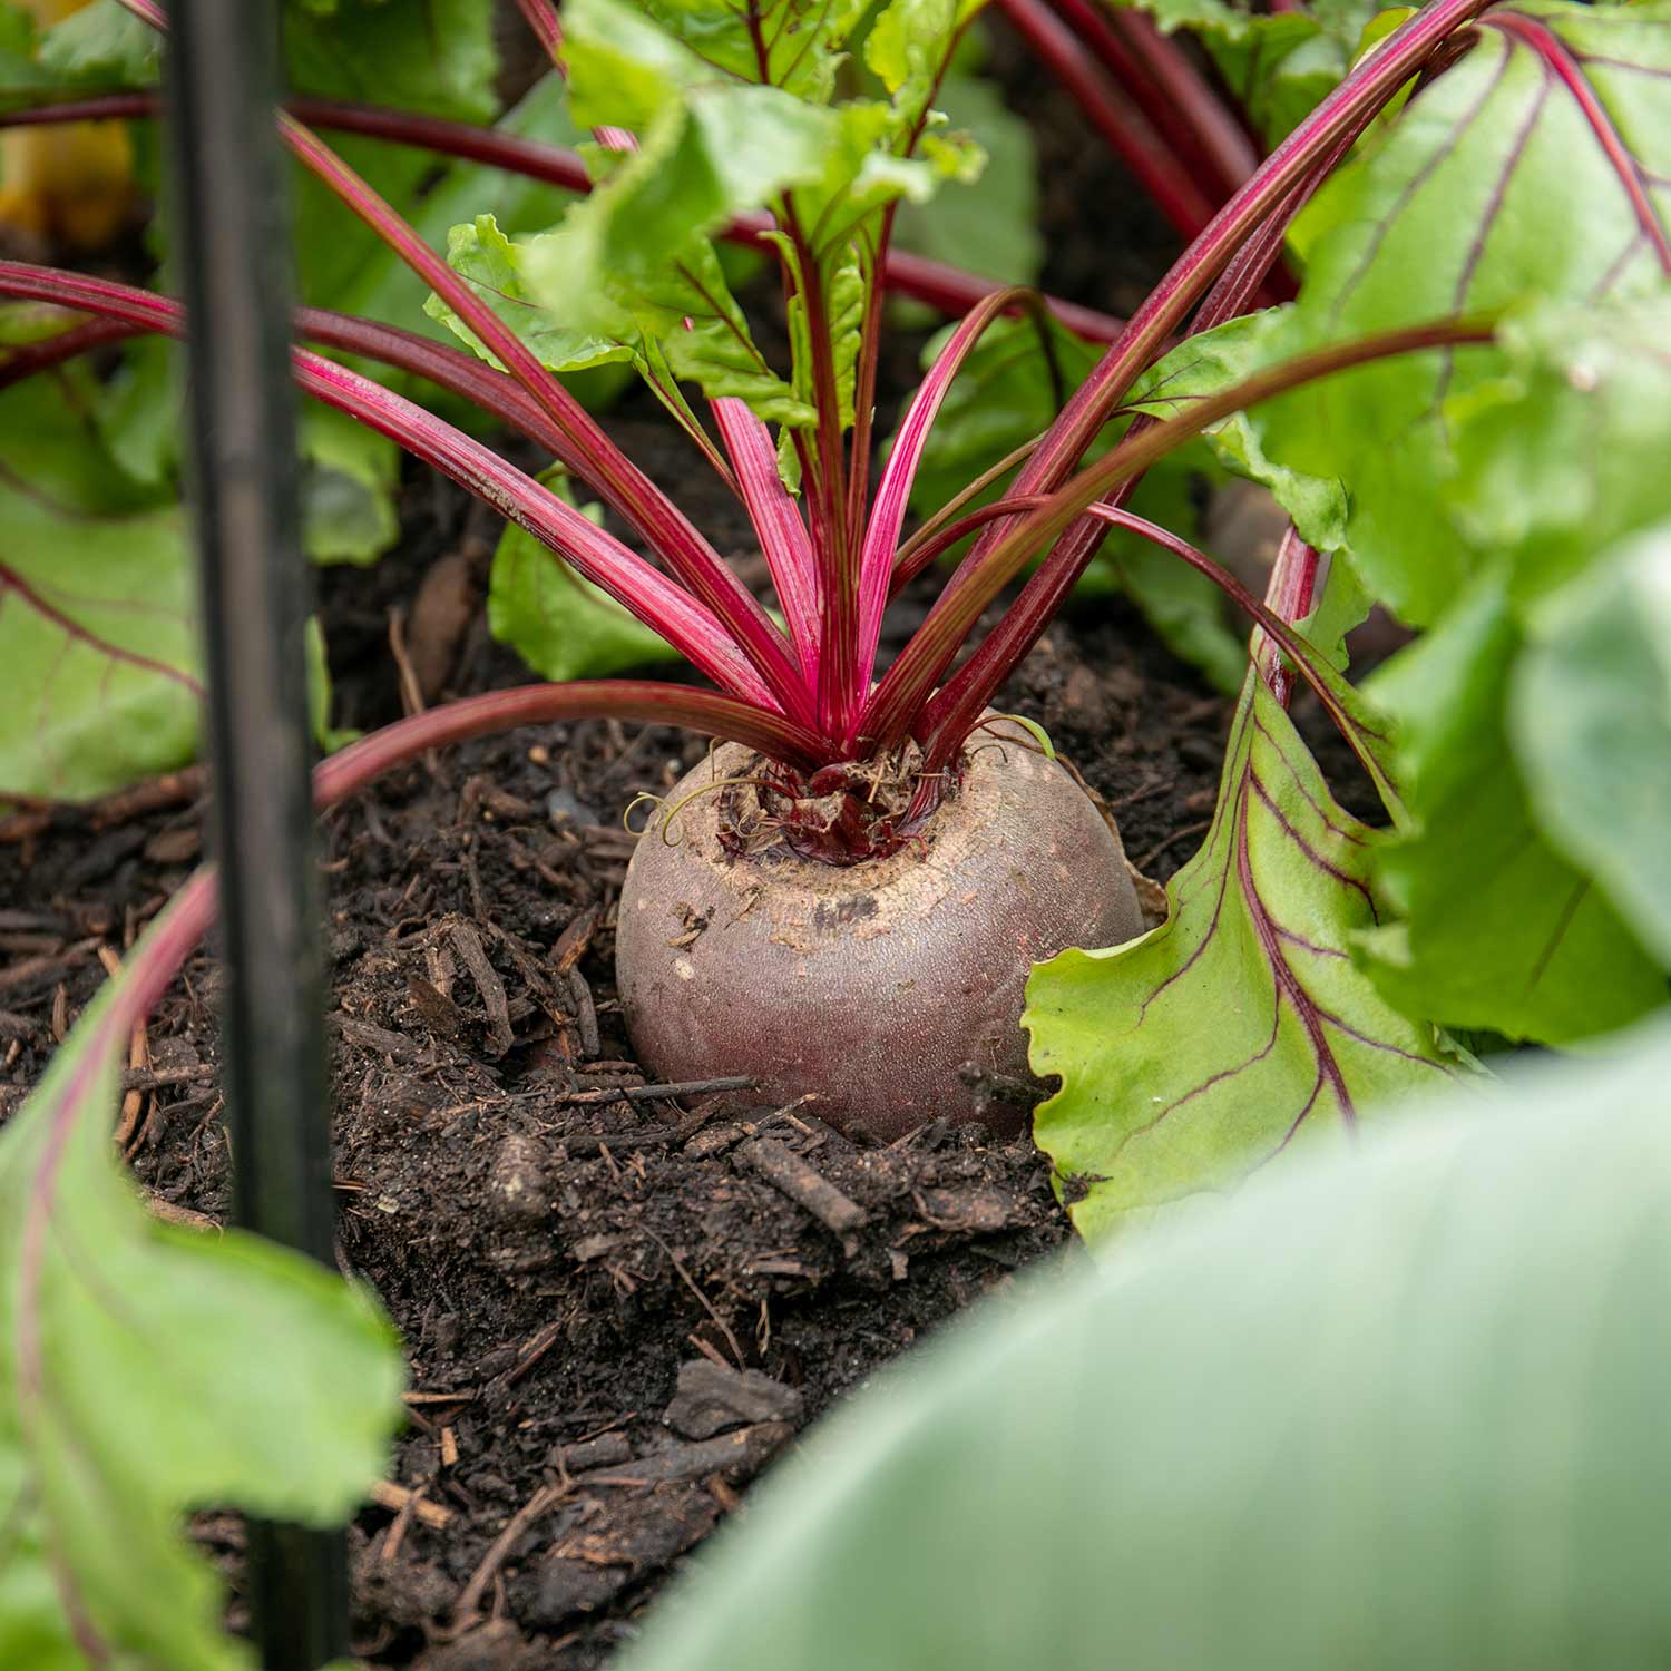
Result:
M1646 1671L1671 1034L1059 1265L879 1377L618 1671Z

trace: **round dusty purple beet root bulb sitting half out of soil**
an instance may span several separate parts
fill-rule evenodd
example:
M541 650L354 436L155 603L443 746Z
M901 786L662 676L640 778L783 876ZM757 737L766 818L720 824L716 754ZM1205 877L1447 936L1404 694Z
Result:
M1028 1078L1034 962L1143 932L1120 837L1053 760L973 749L961 782L899 851L861 864L739 846L729 819L762 762L735 744L673 789L640 839L617 936L622 1008L667 1081L752 1074L759 1095L892 1141L976 1116L964 1076ZM730 812L727 810L730 809ZM730 851L729 851L730 849ZM1004 1133L1024 1115L984 1116Z

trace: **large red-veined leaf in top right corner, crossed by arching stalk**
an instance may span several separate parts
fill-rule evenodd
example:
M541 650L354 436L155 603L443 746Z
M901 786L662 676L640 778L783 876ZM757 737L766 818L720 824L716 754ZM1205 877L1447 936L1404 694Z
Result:
M1527 297L1591 302L1664 287L1671 5L1547 0L1521 10L1552 32L1636 179L1621 177L1572 87L1487 17L1467 57L1410 100L1297 224L1307 277L1285 353ZM1651 224L1638 219L1628 184ZM1452 419L1501 366L1489 349L1407 354L1255 416L1267 455L1345 483L1359 573L1414 625L1435 620L1474 566L1445 510L1457 468Z

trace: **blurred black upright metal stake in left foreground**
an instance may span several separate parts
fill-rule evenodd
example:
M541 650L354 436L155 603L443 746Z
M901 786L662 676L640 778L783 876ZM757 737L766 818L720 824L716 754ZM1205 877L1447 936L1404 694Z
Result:
M172 0L169 18L236 1206L251 1230L329 1263L277 7ZM346 1653L339 1537L252 1524L249 1582L266 1671L314 1671Z

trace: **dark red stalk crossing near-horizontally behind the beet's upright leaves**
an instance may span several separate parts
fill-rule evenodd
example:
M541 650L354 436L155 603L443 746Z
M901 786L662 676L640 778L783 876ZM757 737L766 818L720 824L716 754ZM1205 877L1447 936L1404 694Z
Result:
M491 127L471 127L468 122L448 122L444 117L418 115L409 110L384 110L378 105L346 104L334 99L294 99L291 114L309 127L324 127L339 134L363 134L391 144L419 145L443 155L463 157L486 167L505 169L548 185L571 192L590 192L592 179L587 165L571 150L546 145L536 139L521 139ZM0 127L37 127L52 122L102 122L157 114L155 94L102 94L92 99L75 99L62 104L37 105L32 110L0 110ZM750 249L767 249L767 236L777 231L769 214L742 216L720 236ZM882 282L899 296L937 307L944 314L968 312L981 297L999 289L989 279L973 272L947 267L889 249L882 257ZM1044 306L1076 336L1088 343L1113 343L1123 321L1066 302L1059 296L1046 296Z

